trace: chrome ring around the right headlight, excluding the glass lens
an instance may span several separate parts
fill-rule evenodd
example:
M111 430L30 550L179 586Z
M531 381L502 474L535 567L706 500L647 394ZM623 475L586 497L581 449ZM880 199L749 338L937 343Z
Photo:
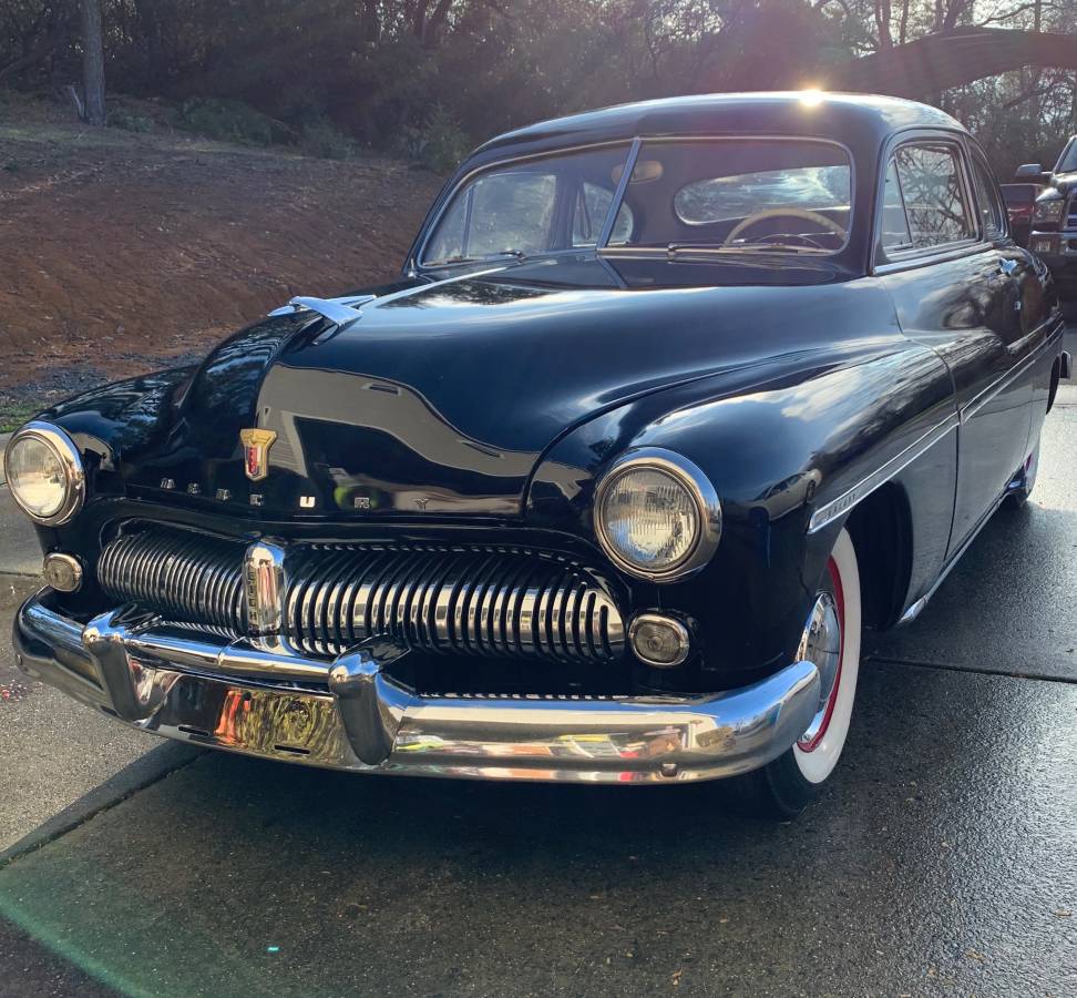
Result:
M603 521L602 510L609 489L628 472L638 470L668 476L688 492L696 507L696 536L691 544L678 561L661 569L648 569L624 558L612 542ZM629 450L614 461L595 489L592 512L595 536L606 557L620 571L648 582L675 582L698 571L714 557L721 538L721 502L710 479L688 458L661 447Z

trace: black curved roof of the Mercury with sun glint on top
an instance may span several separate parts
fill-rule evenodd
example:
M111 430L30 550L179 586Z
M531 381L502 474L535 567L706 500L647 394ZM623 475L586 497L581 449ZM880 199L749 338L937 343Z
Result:
M542 121L491 139L476 152L522 145L555 149L637 135L781 134L852 144L910 128L964 132L937 108L900 98L819 91L712 93L617 104ZM859 142L858 142L859 144Z

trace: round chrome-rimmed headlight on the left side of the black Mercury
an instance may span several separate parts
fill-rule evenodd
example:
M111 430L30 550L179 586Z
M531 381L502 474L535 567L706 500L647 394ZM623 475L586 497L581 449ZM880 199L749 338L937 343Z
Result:
M65 523L85 493L82 458L71 438L48 422L30 422L12 437L3 459L8 487L33 520Z

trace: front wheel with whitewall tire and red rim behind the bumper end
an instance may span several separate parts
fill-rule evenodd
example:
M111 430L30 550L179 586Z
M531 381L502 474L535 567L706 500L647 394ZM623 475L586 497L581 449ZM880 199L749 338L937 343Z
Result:
M819 710L800 740L772 763L741 777L755 809L779 821L797 817L833 773L845 746L860 673L860 570L842 530L831 551L798 659L819 670Z

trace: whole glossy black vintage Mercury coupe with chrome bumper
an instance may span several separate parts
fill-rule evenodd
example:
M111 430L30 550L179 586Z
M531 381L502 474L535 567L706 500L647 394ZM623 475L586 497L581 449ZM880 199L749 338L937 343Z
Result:
M495 139L399 281L11 440L22 668L156 734L357 772L747 774L796 814L861 630L1022 502L1046 268L931 108L612 108ZM900 704L894 710L901 710Z

